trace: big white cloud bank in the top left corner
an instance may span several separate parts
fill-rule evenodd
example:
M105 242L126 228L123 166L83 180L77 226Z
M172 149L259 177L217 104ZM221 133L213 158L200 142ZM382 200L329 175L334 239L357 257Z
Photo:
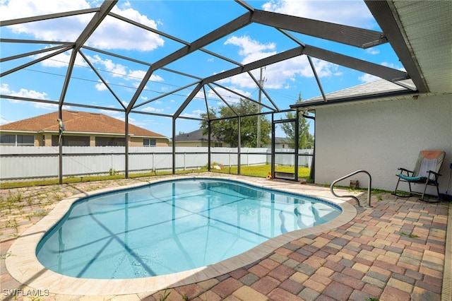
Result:
M0 1L0 16L2 20L40 16L49 13L78 11L81 9L100 6L100 1L58 0L58 1ZM115 6L112 11L126 18L136 20L150 28L157 28L157 22L141 15L131 8L130 2L120 2L121 7ZM93 13L49 19L39 22L13 25L14 33L30 35L40 40L74 41L77 39L93 18ZM117 33L122 33L118 35ZM88 44L102 49L136 49L150 51L164 45L164 40L155 33L143 30L129 23L107 16L104 22L88 39Z

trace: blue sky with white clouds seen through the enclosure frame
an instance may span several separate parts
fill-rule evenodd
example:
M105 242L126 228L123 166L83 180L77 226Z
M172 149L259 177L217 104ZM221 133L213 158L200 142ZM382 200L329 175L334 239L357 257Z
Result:
M263 11L380 30L364 1L269 0L246 1L246 3ZM1 20L11 20L49 13L78 11L98 7L100 4L102 1L97 0L0 0L0 18ZM132 0L119 1L112 9L112 13L190 43L246 13L246 8L230 0ZM87 13L1 27L2 38L46 41L35 44L1 42L2 59L40 49L49 49L43 54L30 54L26 57L1 61L1 73L58 51L58 49L51 48L59 44L51 44L49 41L76 40L92 16L92 13ZM370 49L360 49L299 33L291 33L291 35L307 45L324 47L351 57L372 61L375 64L403 70L403 66L388 43ZM64 109L101 112L122 120L124 120L124 112L117 110L124 109L129 105L136 88L149 68L148 65L141 64L141 62L153 64L184 46L181 42L165 37L165 35L152 33L110 16L95 30L85 45L120 56L133 57L138 61L129 61L90 49L82 49L83 56L78 54L76 57L71 81L65 94ZM247 64L297 46L296 42L287 38L280 31L266 25L253 23L206 45L204 49L228 57L239 64ZM25 68L6 76L1 76L0 94L58 101L61 97L70 54L70 51L66 51L37 64L25 66ZM379 79L369 74L331 64L328 61L314 58L313 63L325 93ZM139 95L134 108L135 112L129 115L129 122L171 138L172 119L169 116L177 112L199 78L212 76L236 66L229 61L200 51L172 62L165 66L165 70L160 69L152 74L143 93ZM300 95L302 100L321 95L309 61L304 55L269 65L262 70L254 70L251 73L258 81L262 73L263 88L270 97L269 100L266 95L261 94L261 101L263 105L267 106L262 108L262 112L268 112L270 110L268 107L273 107L272 101L280 110L287 110ZM188 74L192 76L187 76ZM99 76L108 83L111 90L102 83ZM177 90L177 92L165 95L172 90ZM240 74L215 82L215 85L205 86L180 116L199 118L200 114L206 112L206 107L220 107L225 105L225 102L236 103L241 96L232 91L254 100L259 98L258 86L251 76L246 73ZM162 97L162 95L165 96ZM112 108L112 110L77 107L72 104L101 106ZM0 98L0 124L57 110L57 105L46 102ZM276 117L276 119L280 118L283 118L282 114ZM200 122L197 120L177 119L176 133L188 133L199 127ZM314 126L311 126L310 131L314 131ZM283 136L283 134L279 132L277 136Z

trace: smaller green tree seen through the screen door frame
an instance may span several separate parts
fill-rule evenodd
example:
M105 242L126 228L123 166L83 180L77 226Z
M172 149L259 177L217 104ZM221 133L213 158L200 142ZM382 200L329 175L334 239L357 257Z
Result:
M299 93L297 102L302 101L302 93ZM286 119L295 119L297 114L295 112L287 112L285 114ZM290 141L290 146L295 147L295 122L285 122L281 124L285 135ZM308 148L314 142L314 136L309 134L309 123L307 119L301 114L298 119L298 148Z

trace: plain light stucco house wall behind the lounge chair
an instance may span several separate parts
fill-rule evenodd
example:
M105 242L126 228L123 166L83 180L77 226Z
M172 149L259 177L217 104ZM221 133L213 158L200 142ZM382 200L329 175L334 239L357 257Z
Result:
M446 151L439 180L444 194L452 163L451 94L316 107L316 183L331 184L355 170L367 170L373 188L391 191L398 167L412 170L422 150ZM367 187L364 174L350 179ZM348 186L350 179L338 184ZM403 184L400 188L408 189ZM414 187L419 191L419 185ZM448 194L451 189L449 184Z

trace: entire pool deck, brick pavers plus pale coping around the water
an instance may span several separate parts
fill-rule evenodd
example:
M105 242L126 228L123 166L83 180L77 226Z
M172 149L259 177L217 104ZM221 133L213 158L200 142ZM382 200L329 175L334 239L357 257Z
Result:
M65 280L39 269L32 277L18 276L29 264L20 261L28 256L22 250L29 249L26 244L20 247L20 242L28 243L27 237L33 236L30 229L44 224L44 216L61 206L62 199L178 177L237 179L347 202L347 212L335 223L304 233L299 230L239 260L206 268L208 273L151 282L147 278L135 293L138 286L127 281L100 282L100 287L88 281L93 287L83 282L68 287ZM362 193L358 197L363 207L357 207L353 199L332 197L329 187L219 173L0 189L0 194L0 300L162 300L167 294L165 300L451 300L452 209L444 201L426 203L414 196L381 192L372 194L368 208L367 194Z

